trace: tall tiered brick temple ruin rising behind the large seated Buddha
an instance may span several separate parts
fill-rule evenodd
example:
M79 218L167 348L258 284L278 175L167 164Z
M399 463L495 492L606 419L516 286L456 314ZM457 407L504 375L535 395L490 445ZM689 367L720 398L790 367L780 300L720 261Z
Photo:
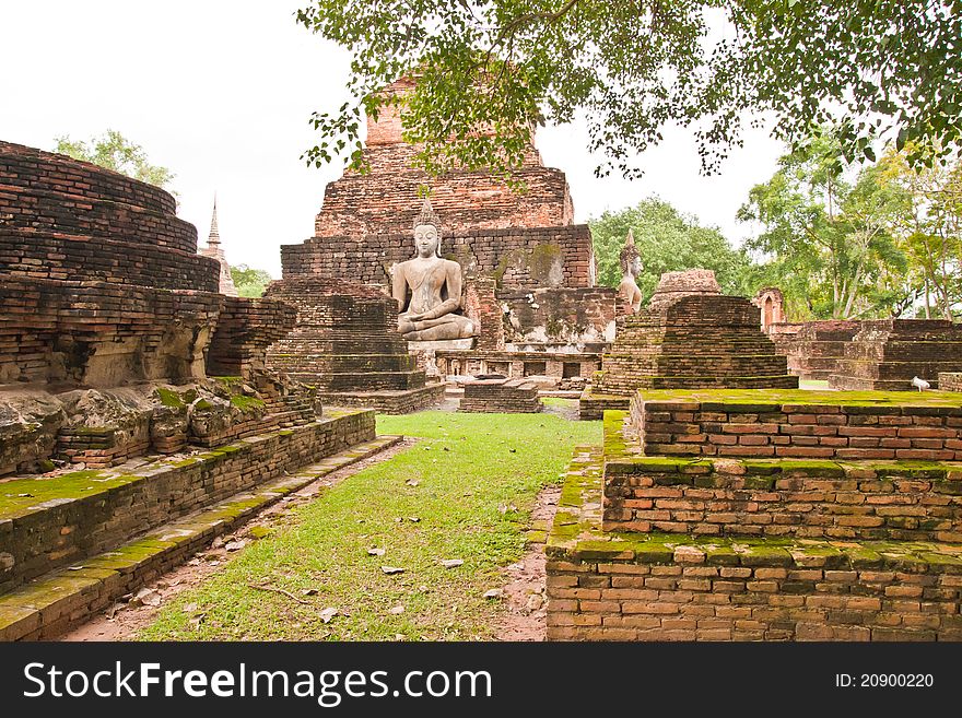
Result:
M410 86L402 80L385 92ZM611 341L617 293L595 286L590 231L573 223L561 170L544 167L532 145L518 174L527 189L515 192L483 172L429 178L410 167L414 151L401 137L395 107L368 120L364 153L371 173L348 170L327 186L315 236L281 248L283 279L349 278L387 291L391 267L413 255L411 226L421 207L419 189L427 185L443 225L441 251L461 266L462 306L480 334L467 348L412 345L424 352L422 368L437 373L435 350L577 351Z

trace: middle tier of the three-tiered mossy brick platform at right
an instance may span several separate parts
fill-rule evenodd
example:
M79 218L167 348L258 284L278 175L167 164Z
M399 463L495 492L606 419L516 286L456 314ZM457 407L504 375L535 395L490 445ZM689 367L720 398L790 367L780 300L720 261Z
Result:
M962 543L962 464L608 461L602 529Z

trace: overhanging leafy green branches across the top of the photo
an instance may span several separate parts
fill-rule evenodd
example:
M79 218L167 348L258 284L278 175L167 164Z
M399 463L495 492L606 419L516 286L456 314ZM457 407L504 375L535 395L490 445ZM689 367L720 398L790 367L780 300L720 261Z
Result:
M848 160L879 136L949 153L962 127L959 0L313 0L296 17L352 54L309 163L361 167L362 116L394 102L433 173L518 166L537 119L584 116L596 172L625 176L670 125L694 130L706 170L746 114L790 141L832 120ZM413 93L378 94L403 75Z

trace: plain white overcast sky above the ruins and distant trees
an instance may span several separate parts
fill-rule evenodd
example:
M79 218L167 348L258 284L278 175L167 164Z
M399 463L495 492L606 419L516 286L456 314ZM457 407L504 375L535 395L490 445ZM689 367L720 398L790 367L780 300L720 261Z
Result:
M349 61L294 22L307 2L2 0L0 139L52 150L61 134L116 129L175 173L179 215L201 245L216 191L227 260L280 276L280 245L314 234L324 188L341 174L300 160L318 141L310 113L343 102ZM783 152L753 131L720 175L702 177L690 136L668 131L632 183L596 179L576 128L544 128L537 144L566 173L578 222L657 193L736 243L749 228L735 212Z

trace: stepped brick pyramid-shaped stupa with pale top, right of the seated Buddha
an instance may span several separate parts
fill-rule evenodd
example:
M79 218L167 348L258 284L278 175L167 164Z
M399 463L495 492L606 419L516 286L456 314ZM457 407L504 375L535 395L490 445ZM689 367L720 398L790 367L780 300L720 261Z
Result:
M667 272L646 310L619 318L580 415L626 408L638 389L797 387L749 299L723 295L709 270Z

